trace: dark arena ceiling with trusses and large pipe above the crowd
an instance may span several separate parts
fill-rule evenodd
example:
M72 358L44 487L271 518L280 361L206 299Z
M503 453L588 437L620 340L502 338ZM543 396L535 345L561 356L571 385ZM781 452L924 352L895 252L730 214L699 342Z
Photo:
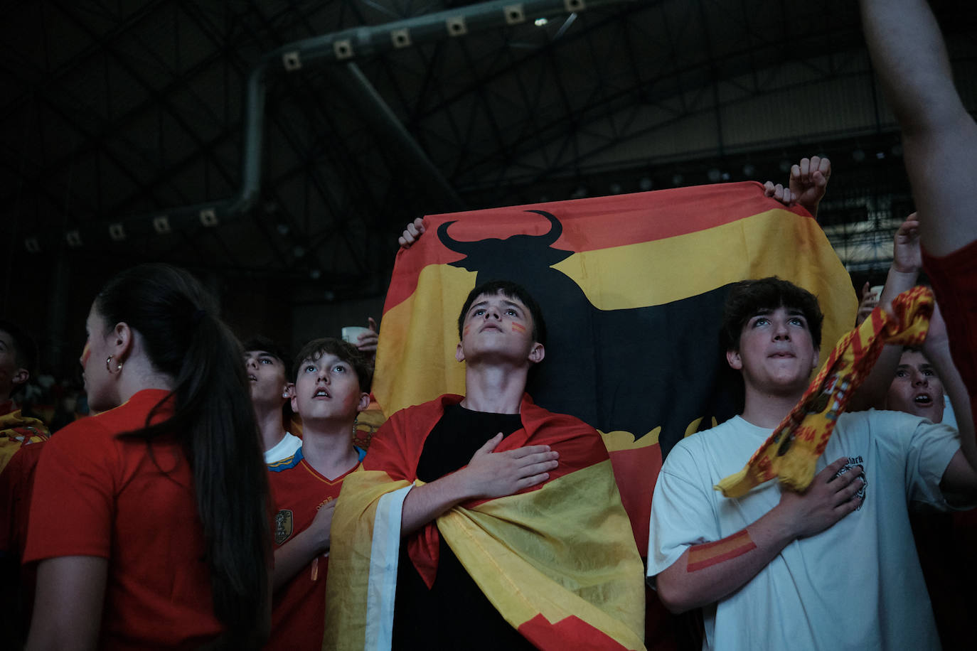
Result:
M971 111L975 4L935 3ZM784 181L814 153L834 162L823 217L852 271L887 266L912 205L853 0L3 13L5 313L88 302L89 279L143 261L274 291L278 310L380 297L414 217Z

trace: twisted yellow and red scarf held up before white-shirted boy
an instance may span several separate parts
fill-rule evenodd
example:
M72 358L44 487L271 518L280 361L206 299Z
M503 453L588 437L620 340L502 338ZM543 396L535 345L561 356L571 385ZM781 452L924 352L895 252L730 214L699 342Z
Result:
M801 492L814 479L838 415L844 411L886 344L920 346L933 314L933 292L913 287L892 302L892 314L875 307L855 330L845 335L800 401L770 438L753 453L746 467L715 485L728 498L742 497L774 477Z

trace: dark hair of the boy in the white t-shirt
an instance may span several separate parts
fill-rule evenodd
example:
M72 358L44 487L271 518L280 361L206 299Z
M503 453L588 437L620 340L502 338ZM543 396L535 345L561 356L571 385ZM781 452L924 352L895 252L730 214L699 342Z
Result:
M797 309L807 320L811 341L821 347L821 325L825 315L818 299L803 287L777 276L736 283L726 297L723 308L722 344L724 350L739 350L740 335L750 317L765 309Z

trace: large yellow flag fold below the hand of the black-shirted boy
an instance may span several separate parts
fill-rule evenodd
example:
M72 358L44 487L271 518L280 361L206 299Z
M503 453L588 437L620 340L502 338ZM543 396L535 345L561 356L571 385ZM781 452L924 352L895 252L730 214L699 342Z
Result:
M616 492L606 461L531 493L451 509L438 530L516 629L539 614L551 624L575 616L642 649L644 571L627 514L607 507Z

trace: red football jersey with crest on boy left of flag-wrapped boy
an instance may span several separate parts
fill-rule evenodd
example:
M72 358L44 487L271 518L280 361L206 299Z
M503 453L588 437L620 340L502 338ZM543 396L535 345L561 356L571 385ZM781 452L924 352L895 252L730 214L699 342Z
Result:
M360 461L366 454L358 449ZM360 466L336 479L327 479L309 465L299 448L292 457L270 464L268 483L275 503L272 537L275 549L292 540L312 524L319 508L339 497L343 479ZM325 628L325 574L329 556L319 554L292 580L276 591L272 600L272 636L265 649L295 651L322 648Z

